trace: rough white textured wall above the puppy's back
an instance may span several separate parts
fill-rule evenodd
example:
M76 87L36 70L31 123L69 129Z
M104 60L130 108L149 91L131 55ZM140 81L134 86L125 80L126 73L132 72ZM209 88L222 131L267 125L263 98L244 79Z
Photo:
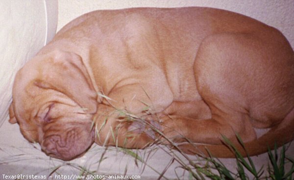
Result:
M58 0L59 30L74 18L98 9L207 6L250 16L278 28L294 48L294 0Z

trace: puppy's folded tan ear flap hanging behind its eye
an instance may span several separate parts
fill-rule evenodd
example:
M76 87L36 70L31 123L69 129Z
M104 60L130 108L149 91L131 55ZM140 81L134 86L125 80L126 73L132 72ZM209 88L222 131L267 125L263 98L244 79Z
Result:
M81 56L68 51L54 51L41 66L42 77L35 85L64 93L87 113L97 110L97 93Z

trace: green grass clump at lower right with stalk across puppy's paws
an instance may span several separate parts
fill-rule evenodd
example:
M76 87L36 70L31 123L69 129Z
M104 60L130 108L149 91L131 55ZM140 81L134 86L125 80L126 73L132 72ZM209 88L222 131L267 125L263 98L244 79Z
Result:
M147 105L147 107L149 106ZM233 173L221 162L221 160L211 155L210 157L202 158L201 165L199 165L199 161L195 163L195 161L191 159L190 156L184 154L181 151L181 149L177 146L177 143L174 143L171 139L165 137L165 135L159 129L156 129L148 122L141 120L140 118L128 112L125 112L124 110L120 112L121 116L125 116L126 121L137 121L144 123L145 125L147 124L147 126L154 130L154 132L164 137L166 141L168 141L171 145L170 151L166 151L166 153L172 157L171 161L177 161L180 164L181 168L189 173L189 180L248 180L249 177L253 177L253 180L293 180L292 176L294 174L294 161L292 157L285 156L285 146L283 146L280 154L277 153L276 146L274 148L273 153L269 149L268 155L270 164L268 164L267 171L265 171L263 167L257 169L253 163L252 158L249 155L247 155L247 157L244 158L241 155L241 153L237 150L237 148L229 141L229 139L225 136L222 136L223 142L226 143L226 145L232 151L234 151L236 156L235 167L237 172ZM241 137L238 134L236 134L236 136L246 152L246 148ZM187 142L189 142L188 139ZM181 154L181 156L178 156L177 154L173 153L173 149L177 150ZM137 155L130 153L132 152L131 150L128 150L127 152L127 154L129 155L137 157ZM291 169L288 172L285 172L286 163L290 163L292 165ZM162 174L164 174L164 172Z

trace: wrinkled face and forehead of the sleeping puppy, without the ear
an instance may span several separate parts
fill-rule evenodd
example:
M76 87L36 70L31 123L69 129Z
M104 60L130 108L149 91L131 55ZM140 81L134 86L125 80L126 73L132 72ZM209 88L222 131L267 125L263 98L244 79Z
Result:
M51 85L55 80L49 78L53 78L54 73L40 69L41 64L44 65L44 62L39 64L32 61L18 72L13 87L10 118L14 116L24 137L30 142L38 142L47 155L71 160L84 154L94 142L94 113L87 111L89 109L73 98L73 93L66 88ZM44 74L49 74L49 83ZM66 81L61 75L55 78L57 84L57 81L65 80L64 85L69 87L74 84L67 83L76 83L75 90L79 90L78 81Z

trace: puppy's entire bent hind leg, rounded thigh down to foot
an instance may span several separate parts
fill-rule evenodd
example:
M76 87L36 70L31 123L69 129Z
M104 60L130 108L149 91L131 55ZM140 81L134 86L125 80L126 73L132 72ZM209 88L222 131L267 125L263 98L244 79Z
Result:
M206 38L194 71L198 93L212 117L166 117L167 137L220 145L221 135L236 144L238 133L247 143L256 140L254 128L280 124L294 106L293 51L276 31L271 37L223 33Z

